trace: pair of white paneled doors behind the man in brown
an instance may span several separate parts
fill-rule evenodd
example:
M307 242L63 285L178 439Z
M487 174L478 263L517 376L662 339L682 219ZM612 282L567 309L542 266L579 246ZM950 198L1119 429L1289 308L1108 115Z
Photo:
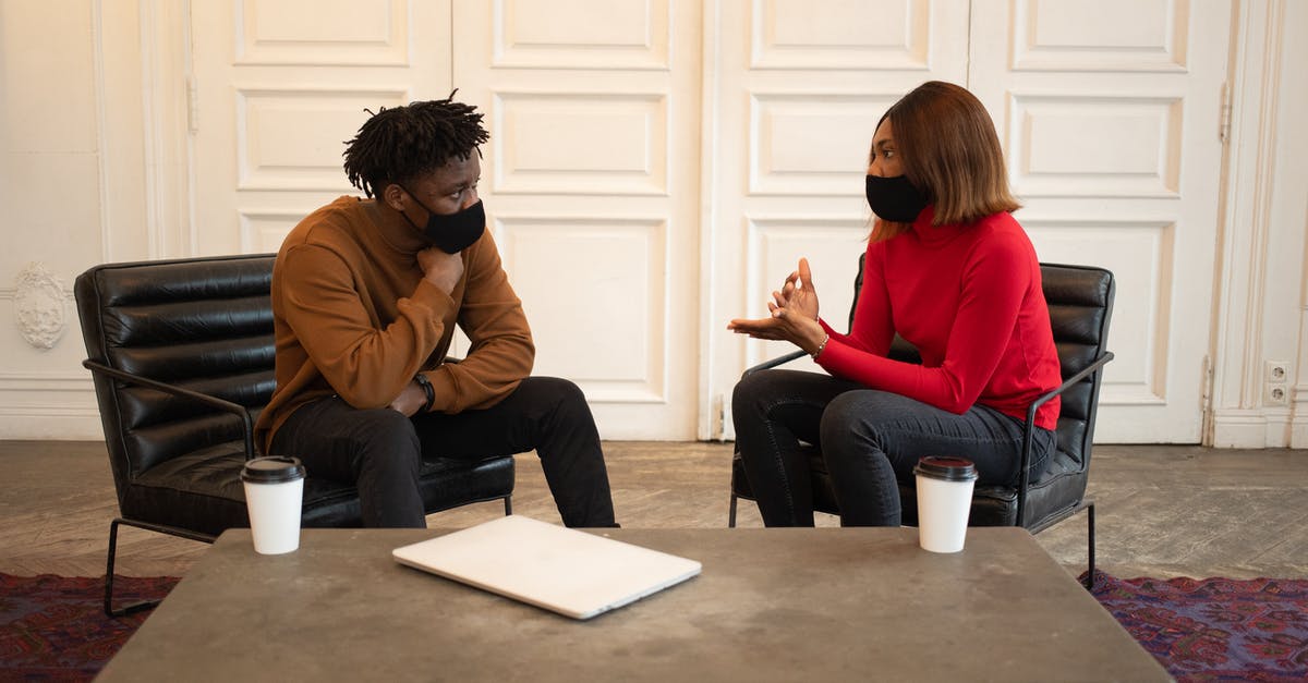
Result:
M480 194L534 372L577 382L604 438L695 438L696 3L191 7L192 251L276 251L314 208L357 194L341 152L365 110L458 88L490 131Z

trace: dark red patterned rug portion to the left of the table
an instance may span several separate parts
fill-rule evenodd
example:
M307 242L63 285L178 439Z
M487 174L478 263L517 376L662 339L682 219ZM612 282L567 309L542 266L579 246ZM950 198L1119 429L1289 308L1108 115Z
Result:
M173 577L114 580L120 603L158 599ZM105 580L0 574L0 680L90 680L149 612L105 616Z

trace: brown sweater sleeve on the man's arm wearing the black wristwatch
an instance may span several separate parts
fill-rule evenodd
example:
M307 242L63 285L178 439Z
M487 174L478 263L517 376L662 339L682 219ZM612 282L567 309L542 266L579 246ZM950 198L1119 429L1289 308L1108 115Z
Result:
M426 373L433 411L456 413L504 400L531 374L536 347L522 301L509 284L490 233L468 249L459 327L472 343L460 362Z

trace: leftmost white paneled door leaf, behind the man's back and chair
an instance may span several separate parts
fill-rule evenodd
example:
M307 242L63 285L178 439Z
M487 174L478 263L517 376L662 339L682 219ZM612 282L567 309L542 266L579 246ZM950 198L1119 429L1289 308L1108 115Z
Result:
M195 254L276 251L356 194L344 141L368 111L450 92L449 0L190 3Z

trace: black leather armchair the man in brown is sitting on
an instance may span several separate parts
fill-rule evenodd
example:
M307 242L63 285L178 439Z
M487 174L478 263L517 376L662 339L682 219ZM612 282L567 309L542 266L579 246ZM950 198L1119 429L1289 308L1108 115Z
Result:
M249 527L241 467L256 455L254 421L275 386L273 255L95 266L77 277L77 314L99 403L118 508L109 533L105 612L112 606L118 525L212 543ZM288 455L294 455L288 454ZM433 459L428 513L504 499L514 459ZM302 526L361 526L352 483L305 480Z

